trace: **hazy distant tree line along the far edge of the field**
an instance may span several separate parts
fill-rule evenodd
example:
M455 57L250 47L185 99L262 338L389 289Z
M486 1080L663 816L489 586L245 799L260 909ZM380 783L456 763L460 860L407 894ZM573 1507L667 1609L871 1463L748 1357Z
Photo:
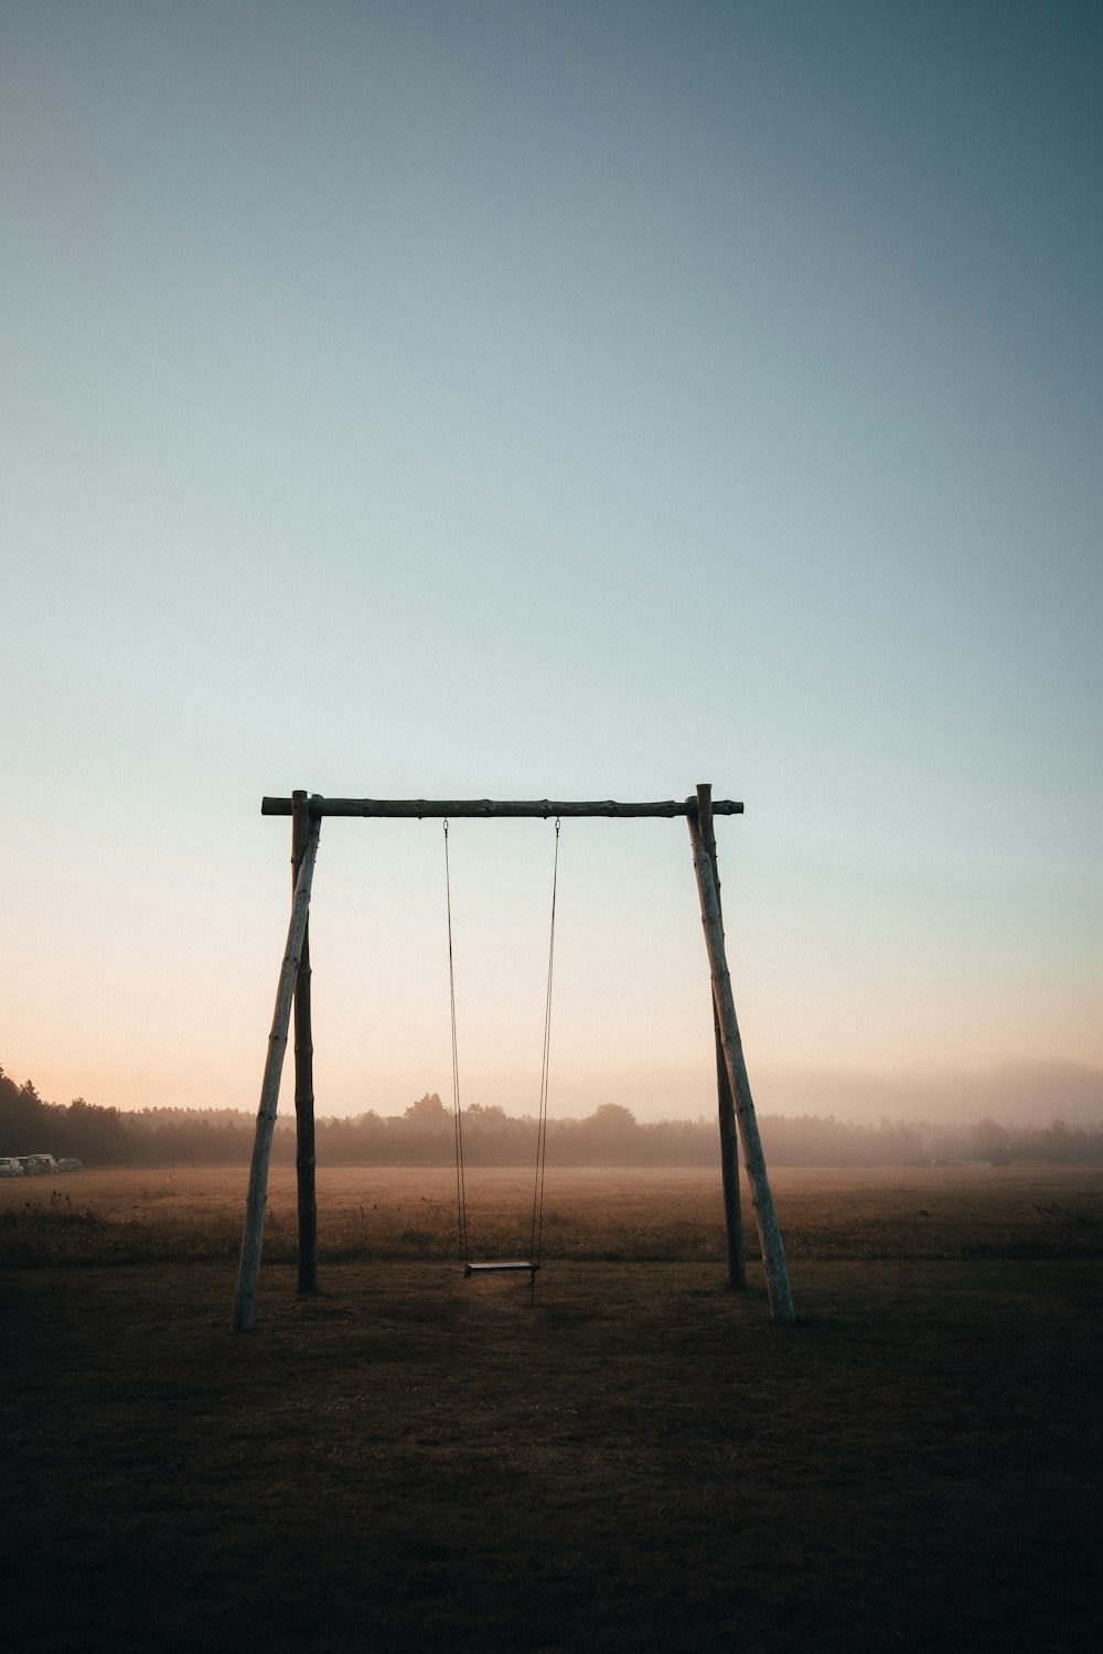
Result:
M142 1108L124 1113L78 1097L48 1103L30 1080L17 1085L0 1068L0 1154L71 1154L88 1166L246 1166L255 1116L235 1108ZM766 1156L777 1166L929 1166L1010 1161L1103 1164L1103 1125L1053 1120L1037 1130L1009 1130L997 1120L931 1126L881 1120L853 1125L833 1115L759 1115ZM453 1159L451 1110L427 1093L402 1115L318 1120L318 1159L327 1166L446 1166ZM463 1111L465 1161L526 1166L534 1161L536 1120L503 1108ZM549 1166L711 1166L714 1120L645 1123L620 1103L604 1103L582 1120L552 1118ZM276 1123L273 1161L294 1161L294 1118Z

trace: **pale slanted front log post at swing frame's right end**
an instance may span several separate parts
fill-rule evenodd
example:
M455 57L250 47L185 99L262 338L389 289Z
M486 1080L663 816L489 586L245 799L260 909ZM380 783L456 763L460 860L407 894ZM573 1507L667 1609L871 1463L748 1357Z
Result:
M690 842L693 845L693 867L698 880L698 895L701 898L704 946L708 948L708 963L713 978L713 1004L716 1006L716 1021L719 1024L719 1037L724 1050L728 1083L731 1087L736 1120L739 1123L742 1159L751 1183L751 1201L754 1206L754 1221L759 1231L759 1244L762 1247L762 1264L766 1265L766 1290L769 1295L771 1315L776 1322L795 1322L797 1315L792 1307L789 1270L785 1269L785 1249L782 1245L781 1229L777 1227L777 1212L774 1211L774 1196L771 1194L769 1176L766 1171L766 1156L762 1154L759 1123L754 1116L747 1067L742 1060L742 1040L739 1039L736 1002L731 992L731 976L728 974L724 926L719 918L719 898L716 895L716 880L713 878L713 863L701 839L696 810L688 814L686 819L690 824Z

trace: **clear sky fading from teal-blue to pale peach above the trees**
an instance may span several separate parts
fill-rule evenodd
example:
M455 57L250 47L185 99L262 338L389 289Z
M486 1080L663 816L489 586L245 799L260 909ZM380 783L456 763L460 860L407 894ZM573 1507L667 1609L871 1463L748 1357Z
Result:
M1103 1118L1098 5L0 41L5 1072L256 1108L265 794L708 781L761 1110ZM451 825L468 1105L537 1105L552 852ZM319 1111L448 1097L440 824L327 820L311 951ZM552 1120L713 1098L685 822L564 822Z

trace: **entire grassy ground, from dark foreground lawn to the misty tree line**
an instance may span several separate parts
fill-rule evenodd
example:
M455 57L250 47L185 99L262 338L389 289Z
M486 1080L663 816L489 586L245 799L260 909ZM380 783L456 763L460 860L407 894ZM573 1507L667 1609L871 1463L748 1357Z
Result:
M0 1184L13 1649L1103 1644L1103 1178L774 1174L800 1322L723 1285L701 1173L549 1171L546 1269L465 1282L450 1179ZM524 1178L476 1173L513 1250ZM513 1232L511 1232L513 1231Z

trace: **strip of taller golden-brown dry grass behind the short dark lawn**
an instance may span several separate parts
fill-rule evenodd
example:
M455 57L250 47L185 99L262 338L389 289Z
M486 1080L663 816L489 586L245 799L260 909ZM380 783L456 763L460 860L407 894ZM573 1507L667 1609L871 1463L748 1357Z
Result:
M923 1168L772 1174L785 1249L797 1259L1101 1257L1103 1169ZM0 1262L230 1260L241 1244L246 1173L99 1171L0 1183ZM337 1168L318 1178L324 1260L451 1259L455 1178L440 1168ZM473 1252L528 1254L531 1174L468 1174ZM756 1249L744 1189L747 1255ZM271 1173L265 1255L293 1262L294 1171ZM718 1176L698 1169L549 1174L549 1260L718 1262Z

